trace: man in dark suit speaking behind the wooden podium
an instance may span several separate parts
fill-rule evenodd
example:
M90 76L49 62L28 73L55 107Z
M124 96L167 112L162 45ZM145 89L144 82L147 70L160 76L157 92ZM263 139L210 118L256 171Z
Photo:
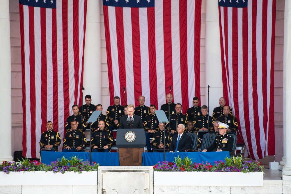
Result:
M134 105L127 106L127 116L120 118L119 129L143 129L141 117L134 115Z

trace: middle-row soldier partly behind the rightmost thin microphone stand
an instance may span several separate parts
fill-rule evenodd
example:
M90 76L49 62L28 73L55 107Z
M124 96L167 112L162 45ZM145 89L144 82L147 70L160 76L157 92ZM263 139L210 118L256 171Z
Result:
M208 109L206 105L203 105L201 107L201 115L198 115L194 119L194 129L195 131L212 131L213 130L213 117L209 116ZM209 116L209 120L208 120ZM208 130L208 124L209 124L209 130Z

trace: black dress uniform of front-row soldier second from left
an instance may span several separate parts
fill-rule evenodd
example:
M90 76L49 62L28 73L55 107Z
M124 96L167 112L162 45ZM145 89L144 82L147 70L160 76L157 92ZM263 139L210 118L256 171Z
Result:
M83 144L82 144L83 139ZM77 149L77 147L83 145L83 148L86 146L87 140L85 137L84 132L82 132L82 129L77 129L76 131L72 130L66 133L65 139L64 139L64 148L69 146L70 148L74 147Z

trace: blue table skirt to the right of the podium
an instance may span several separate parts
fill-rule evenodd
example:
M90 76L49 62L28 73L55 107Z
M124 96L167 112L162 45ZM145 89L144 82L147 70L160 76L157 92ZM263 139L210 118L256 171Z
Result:
M229 152L166 152L166 161L175 161L175 157L184 158L188 156L192 159L192 162L202 163L205 161L214 165L214 161L224 160L224 158L229 158ZM157 164L159 161L164 161L164 153L143 153L143 166L152 166Z

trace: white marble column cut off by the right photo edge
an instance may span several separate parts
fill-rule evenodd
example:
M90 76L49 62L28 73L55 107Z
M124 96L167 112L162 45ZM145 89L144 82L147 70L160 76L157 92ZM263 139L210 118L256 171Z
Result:
M287 3L286 3L287 1ZM285 14L287 12L287 20L284 23L286 34L284 31L284 49L286 47L286 55L284 57L284 65L286 66L286 118L291 117L291 0L285 1ZM285 25L286 24L286 25ZM286 36L285 36L286 35ZM284 120L285 122L285 120ZM291 126L286 124L285 137L291 137ZM284 150L285 151L285 150ZM291 180L291 139L286 138L286 164L282 172L283 180Z

